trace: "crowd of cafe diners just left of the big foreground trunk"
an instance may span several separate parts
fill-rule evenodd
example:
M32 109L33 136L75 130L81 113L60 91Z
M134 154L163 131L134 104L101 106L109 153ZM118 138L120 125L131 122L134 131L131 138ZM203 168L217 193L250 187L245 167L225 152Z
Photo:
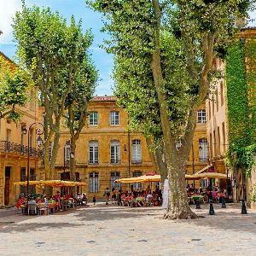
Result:
M145 190L132 192L125 191L122 187L119 190L113 188L110 192L107 188L104 196L106 197L106 205L108 205L109 201L123 207L148 207L162 204L162 192L159 186L155 186L154 191L151 191L148 185L148 188Z

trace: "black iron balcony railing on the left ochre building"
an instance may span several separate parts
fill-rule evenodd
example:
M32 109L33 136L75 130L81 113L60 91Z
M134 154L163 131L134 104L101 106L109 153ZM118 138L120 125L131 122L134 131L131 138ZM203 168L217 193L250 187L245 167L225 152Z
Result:
M0 141L0 152L8 154L28 154L28 147L17 143L10 143L8 141ZM42 150L37 148L29 148L30 156L41 157Z

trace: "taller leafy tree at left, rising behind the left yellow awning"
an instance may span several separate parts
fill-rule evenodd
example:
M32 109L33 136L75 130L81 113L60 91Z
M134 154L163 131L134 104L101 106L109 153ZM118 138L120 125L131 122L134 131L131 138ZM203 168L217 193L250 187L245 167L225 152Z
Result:
M15 15L13 27L20 61L32 73L45 110L44 152L48 152L48 143L54 142L51 160L48 154L44 154L48 179L55 169L61 118L67 105L77 97L87 99L95 87L93 81L89 82L95 77L94 72L88 74L86 70L91 65L88 50L92 34L90 30L83 32L81 21L76 22L73 17L67 25L67 20L59 13L49 8L27 8L24 2L22 10ZM86 87L86 95L83 94L83 86Z

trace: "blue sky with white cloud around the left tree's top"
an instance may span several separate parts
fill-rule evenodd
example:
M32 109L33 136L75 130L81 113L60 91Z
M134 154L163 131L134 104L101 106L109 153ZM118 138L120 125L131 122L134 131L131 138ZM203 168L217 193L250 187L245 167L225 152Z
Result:
M96 95L113 95L111 90L113 86L111 79L113 56L108 55L104 49L99 47L103 39L107 38L106 34L100 32L103 26L101 15L87 8L84 2L84 0L26 0L28 6L36 4L40 7L48 6L58 10L67 20L70 20L70 17L74 15L76 20L83 20L84 31L88 28L92 29L95 38L91 47L91 54L101 79L96 88ZM20 0L0 0L0 29L3 31L3 35L0 36L0 50L11 59L15 56L16 48L12 36L12 17L15 15L15 11L20 9Z

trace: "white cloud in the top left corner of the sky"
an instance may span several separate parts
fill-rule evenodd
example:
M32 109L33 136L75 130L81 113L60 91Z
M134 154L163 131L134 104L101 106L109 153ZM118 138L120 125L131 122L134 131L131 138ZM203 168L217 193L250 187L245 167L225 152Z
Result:
M12 41L12 18L15 16L15 12L20 9L20 0L0 0L0 30L3 31L0 36L0 43L10 43Z

